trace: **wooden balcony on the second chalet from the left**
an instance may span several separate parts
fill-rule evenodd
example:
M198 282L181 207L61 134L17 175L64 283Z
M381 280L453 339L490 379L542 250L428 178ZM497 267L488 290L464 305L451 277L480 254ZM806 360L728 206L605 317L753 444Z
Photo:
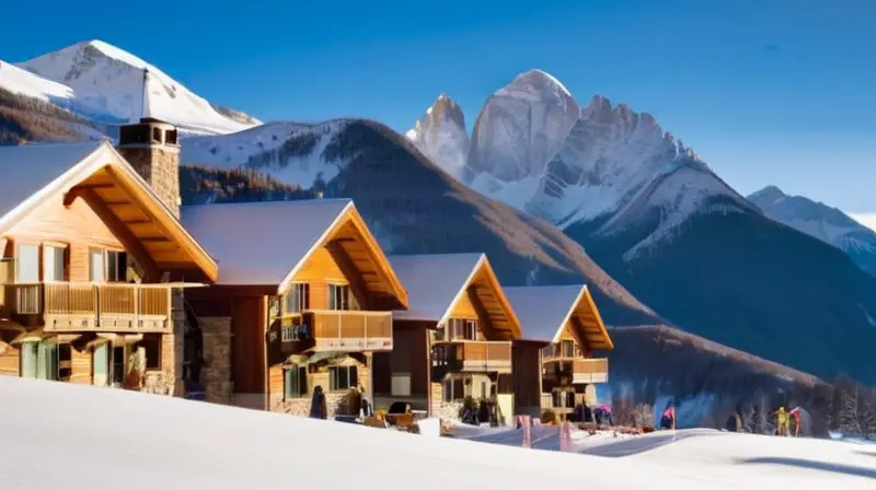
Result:
M284 352L392 350L392 312L309 310L301 323L284 326Z

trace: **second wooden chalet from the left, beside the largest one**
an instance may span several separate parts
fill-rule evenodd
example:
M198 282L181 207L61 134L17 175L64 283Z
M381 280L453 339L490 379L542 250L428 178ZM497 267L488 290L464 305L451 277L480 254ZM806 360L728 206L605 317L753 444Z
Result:
M407 294L353 201L189 206L182 220L221 267L187 298L231 318L231 404L307 415L316 386L330 412L349 387L370 396Z

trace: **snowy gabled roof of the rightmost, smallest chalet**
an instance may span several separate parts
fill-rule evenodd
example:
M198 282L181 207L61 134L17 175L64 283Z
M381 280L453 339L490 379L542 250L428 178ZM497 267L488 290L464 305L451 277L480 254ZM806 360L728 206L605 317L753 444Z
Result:
M587 285L506 287L505 294L526 339L558 342L563 328L576 318L590 349L614 348Z

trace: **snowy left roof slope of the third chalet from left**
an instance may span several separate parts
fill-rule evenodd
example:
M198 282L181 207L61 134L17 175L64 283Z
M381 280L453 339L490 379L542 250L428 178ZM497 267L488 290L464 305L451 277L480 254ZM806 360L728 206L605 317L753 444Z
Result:
M484 254L396 255L388 258L407 290L407 311L393 312L393 318L441 322L484 259Z

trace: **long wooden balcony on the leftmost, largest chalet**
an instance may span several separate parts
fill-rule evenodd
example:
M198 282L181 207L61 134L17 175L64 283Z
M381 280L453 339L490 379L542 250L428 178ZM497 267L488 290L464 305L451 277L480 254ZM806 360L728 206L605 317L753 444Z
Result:
M5 284L4 306L46 331L166 332L172 329L166 284L51 282Z

